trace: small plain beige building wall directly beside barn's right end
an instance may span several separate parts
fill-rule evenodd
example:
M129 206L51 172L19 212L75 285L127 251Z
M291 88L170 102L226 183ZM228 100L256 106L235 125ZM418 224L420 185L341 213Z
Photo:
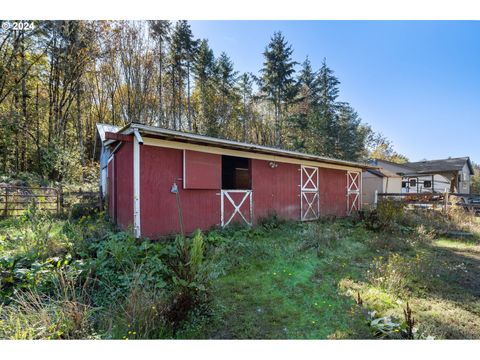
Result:
M362 173L362 201L364 204L375 203L377 193L400 193L402 176L386 169L366 169Z

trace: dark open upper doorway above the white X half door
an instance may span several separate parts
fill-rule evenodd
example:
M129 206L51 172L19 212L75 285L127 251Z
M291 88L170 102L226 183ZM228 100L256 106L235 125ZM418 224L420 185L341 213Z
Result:
M222 189L251 190L250 159L222 156Z

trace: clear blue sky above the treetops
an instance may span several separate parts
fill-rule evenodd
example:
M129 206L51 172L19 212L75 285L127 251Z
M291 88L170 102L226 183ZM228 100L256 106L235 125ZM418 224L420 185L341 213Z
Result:
M339 100L411 161L480 163L480 21L191 21L240 72L258 74L275 31L295 61L325 58ZM299 69L300 67L298 67Z

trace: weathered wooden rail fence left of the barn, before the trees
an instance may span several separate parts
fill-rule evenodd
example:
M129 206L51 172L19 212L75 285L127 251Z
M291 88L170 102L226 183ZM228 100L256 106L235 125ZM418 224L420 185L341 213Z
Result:
M42 211L61 214L75 204L102 208L96 191L67 191L61 187L0 186L0 216L21 216L31 206Z

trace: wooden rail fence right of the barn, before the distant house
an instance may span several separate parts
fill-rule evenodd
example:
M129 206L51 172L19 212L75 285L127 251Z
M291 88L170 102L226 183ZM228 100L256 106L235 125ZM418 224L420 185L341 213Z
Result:
M378 193L375 191L375 206L379 201L391 199L404 202L408 208L441 209L451 206L463 208L465 212L480 215L480 194L457 193Z

